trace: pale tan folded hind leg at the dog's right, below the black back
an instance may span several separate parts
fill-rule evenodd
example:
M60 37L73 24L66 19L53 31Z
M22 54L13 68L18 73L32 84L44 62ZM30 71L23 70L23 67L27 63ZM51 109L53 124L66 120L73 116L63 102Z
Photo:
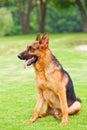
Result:
M81 109L81 103L79 101L75 101L69 108L68 108L68 114L73 115L79 112Z

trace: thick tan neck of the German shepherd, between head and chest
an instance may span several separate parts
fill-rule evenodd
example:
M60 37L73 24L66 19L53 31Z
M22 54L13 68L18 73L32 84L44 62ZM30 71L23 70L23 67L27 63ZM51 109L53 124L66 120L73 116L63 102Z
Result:
M44 56L45 55L45 56ZM54 63L55 62L55 63ZM39 72L48 72L50 70L54 71L55 69L62 69L61 64L52 54L52 52L48 49L42 57L38 59L38 61L34 64L35 71Z

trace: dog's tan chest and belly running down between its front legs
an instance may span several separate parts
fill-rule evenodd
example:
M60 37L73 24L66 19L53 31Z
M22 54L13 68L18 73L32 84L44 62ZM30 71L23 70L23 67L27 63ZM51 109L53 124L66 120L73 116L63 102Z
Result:
M54 93L54 80L51 73L46 72L45 75L38 75L36 78L37 88L41 90L45 101L50 107L60 109L59 97Z

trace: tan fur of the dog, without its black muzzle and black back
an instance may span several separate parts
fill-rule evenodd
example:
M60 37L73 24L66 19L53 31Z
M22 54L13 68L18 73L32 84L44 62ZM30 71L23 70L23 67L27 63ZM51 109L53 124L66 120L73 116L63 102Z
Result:
M77 101L70 107L67 105L66 85L68 77L62 73L61 66L57 66L52 59L50 49L48 47L48 34L46 33L41 39L38 35L36 41L31 44L33 48L39 49L34 52L25 51L24 53L37 55L38 61L33 64L35 69L35 84L38 91L37 103L30 120L25 123L32 123L38 117L44 117L51 113L54 117L62 116L61 124L68 122L68 114L74 114L81 108ZM44 113L40 114L41 108L45 104Z

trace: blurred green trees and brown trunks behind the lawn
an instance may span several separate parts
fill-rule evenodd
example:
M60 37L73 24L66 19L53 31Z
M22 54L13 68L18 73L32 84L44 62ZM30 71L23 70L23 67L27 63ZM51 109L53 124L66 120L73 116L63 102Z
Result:
M0 36L87 32L87 0L0 0Z

